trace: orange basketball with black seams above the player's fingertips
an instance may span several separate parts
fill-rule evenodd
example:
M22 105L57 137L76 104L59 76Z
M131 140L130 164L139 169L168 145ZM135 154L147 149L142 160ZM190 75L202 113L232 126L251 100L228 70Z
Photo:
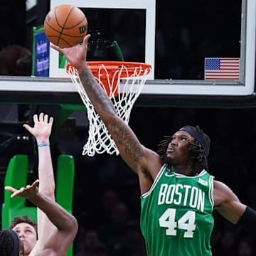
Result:
M63 4L48 12L44 30L51 43L60 48L68 48L81 43L85 37L87 18L78 7Z

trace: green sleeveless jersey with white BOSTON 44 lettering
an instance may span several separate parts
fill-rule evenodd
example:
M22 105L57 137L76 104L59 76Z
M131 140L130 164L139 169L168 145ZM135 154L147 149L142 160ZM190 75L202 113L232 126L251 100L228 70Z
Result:
M213 176L184 176L164 166L141 196L142 235L148 256L212 255Z

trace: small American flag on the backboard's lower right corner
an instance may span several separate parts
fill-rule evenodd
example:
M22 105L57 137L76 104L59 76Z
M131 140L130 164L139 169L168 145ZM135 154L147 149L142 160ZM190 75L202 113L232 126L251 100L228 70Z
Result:
M205 58L205 80L240 80L240 58Z

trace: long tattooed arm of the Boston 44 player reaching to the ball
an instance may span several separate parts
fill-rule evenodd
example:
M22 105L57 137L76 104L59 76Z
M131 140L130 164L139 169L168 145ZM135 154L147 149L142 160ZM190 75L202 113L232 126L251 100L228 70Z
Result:
M124 161L139 175L144 176L143 173L149 171L154 178L161 169L159 155L139 143L132 129L117 116L105 91L97 84L86 63L87 41L89 38L90 35L85 36L82 45L72 48L51 47L63 53L67 60L78 70L85 92L110 131Z

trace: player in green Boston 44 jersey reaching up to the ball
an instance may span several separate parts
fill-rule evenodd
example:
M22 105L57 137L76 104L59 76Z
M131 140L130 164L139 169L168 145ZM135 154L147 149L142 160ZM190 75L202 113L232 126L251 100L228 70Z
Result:
M208 174L210 140L198 127L183 127L163 142L160 153L147 149L117 116L87 65L87 41L55 50L78 70L92 105L124 161L138 174L142 193L142 233L148 256L211 255L213 208L232 223L256 225L256 213L228 186Z

